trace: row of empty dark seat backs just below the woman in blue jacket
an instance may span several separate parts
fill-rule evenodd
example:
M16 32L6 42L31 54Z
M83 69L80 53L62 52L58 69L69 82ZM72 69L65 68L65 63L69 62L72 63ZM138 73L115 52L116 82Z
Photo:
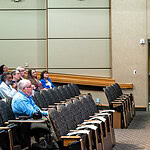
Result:
M35 91L34 101L40 108L47 108L50 105L65 102L80 94L76 84L68 84L53 89L41 90L40 93Z

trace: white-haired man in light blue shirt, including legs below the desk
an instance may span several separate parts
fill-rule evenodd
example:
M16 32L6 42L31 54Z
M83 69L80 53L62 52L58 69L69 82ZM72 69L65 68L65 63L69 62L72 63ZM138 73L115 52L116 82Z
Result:
M12 99L12 110L15 117L29 116L32 117L36 112L40 112L43 116L48 115L48 111L42 111L33 101L32 98L32 85L30 80L20 80L18 84L18 92ZM24 133L26 134L26 133ZM48 147L49 144L53 143L53 139L43 139L44 135L49 135L50 129L45 123L32 123L30 126L30 136L34 136L35 141L38 143L38 148L43 146ZM33 145L32 145L33 146ZM35 149L38 149L35 148Z

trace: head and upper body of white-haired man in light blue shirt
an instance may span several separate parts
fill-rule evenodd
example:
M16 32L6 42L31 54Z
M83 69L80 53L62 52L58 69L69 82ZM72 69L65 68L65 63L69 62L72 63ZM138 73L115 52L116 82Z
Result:
M37 111L40 111L43 116L48 115L48 111L42 111L33 101L32 89L30 80L19 81L18 92L12 99L12 110L16 118L18 116L31 117Z

